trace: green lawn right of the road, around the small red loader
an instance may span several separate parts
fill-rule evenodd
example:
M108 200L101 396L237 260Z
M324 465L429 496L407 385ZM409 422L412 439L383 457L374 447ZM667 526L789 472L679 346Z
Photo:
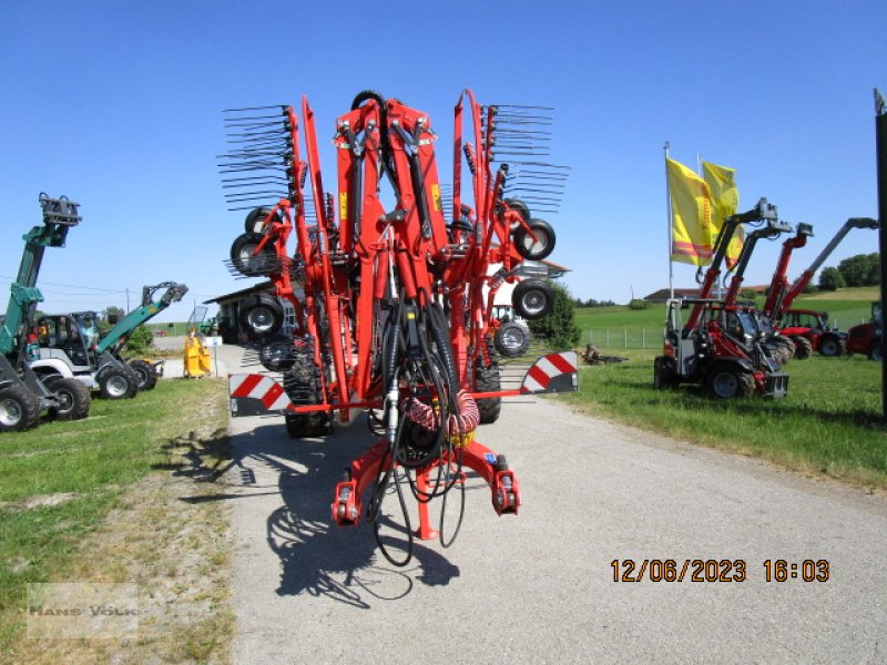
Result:
M880 426L880 365L859 356L794 360L788 396L717 401L700 389L654 390L656 351L581 370L562 399L659 434L887 488L887 434Z

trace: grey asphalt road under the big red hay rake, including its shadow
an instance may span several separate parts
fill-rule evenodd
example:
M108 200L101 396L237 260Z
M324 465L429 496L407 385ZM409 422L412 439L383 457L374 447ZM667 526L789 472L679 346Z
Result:
M884 497L512 402L478 438L520 514L473 478L456 543L398 569L367 524L330 522L366 428L297 443L282 420L232 423L235 663L887 663ZM629 559L741 560L745 580L614 582ZM776 559L827 561L828 581L767 583Z

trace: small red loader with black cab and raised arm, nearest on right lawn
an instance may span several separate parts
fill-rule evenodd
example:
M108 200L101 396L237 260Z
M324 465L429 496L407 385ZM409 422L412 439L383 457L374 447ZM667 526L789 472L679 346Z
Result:
M745 397L753 392L766 397L785 396L788 375L779 371L779 362L762 345L761 328L755 318L735 301L727 305L711 298L727 246L741 224L762 225L748 234L746 244L751 241L752 247L753 238L773 237L791 231L778 219L776 207L764 198L751 211L724 221L700 297L667 303L663 355L656 357L653 365L655 388L696 383L717 399ZM751 249L744 254L747 263ZM742 272L738 282L734 277L735 290L742 284L741 275ZM692 309L684 323L683 310L687 308Z

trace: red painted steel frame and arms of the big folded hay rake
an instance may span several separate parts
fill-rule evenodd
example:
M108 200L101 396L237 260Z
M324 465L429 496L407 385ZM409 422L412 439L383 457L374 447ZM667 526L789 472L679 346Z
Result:
M486 114L486 115L485 115ZM456 109L453 141L453 221L465 215L473 224L471 233L448 229L440 197L434 141L428 114L389 100L381 106L376 99L337 120L338 224L334 206L324 200L314 113L307 98L302 102L306 161L300 161L298 119L287 109L292 132L292 187L295 201L278 202L265 221L265 238L256 254L273 243L281 269L271 277L279 296L296 311L296 328L316 344L315 364L320 372L324 400L319 405L296 406L299 413L336 411L347 421L355 408L383 405L383 386L373 380L370 368L379 354L378 301L390 293L395 269L406 297L420 306L445 300L450 311L450 337L462 390L476 389L476 362L489 364L485 337L496 289L522 260L511 239L511 228L522 225L536 241L522 215L502 201L506 167L491 172L490 131L495 127L495 108L483 109L470 90L460 96ZM462 142L463 116L470 120L473 142ZM486 123L486 129L485 129ZM397 198L397 208L385 214L378 190L386 164L379 146L387 141L391 168L388 168ZM384 155L385 153L383 153ZM472 175L473 208L463 213L461 182L462 155ZM317 222L309 227L305 214L302 182L310 182ZM293 259L287 241L295 232L297 260L304 272L304 307L295 297L290 278ZM496 246L493 245L496 241ZM488 276L489 266L503 264L503 270ZM359 276L355 283L354 276ZM489 294L485 298L483 289ZM323 339L318 319L318 299L328 324ZM328 354L322 352L326 345ZM476 397L521 395L520 390L478 393ZM333 516L340 524L355 524L361 514L361 495L377 475L392 464L386 460L388 441L380 440L350 466L350 479L336 488ZM500 469L496 456L473 440L457 452L447 452L425 468L415 470L417 484L428 487L429 473L439 464L472 469L491 488L498 514L517 513L520 491L517 479ZM420 538L432 538L428 509L420 502Z

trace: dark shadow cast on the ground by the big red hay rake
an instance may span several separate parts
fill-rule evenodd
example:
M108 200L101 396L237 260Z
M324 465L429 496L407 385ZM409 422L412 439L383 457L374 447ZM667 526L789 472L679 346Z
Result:
M266 518L268 548L281 560L278 595L308 593L369 608L373 601L405 597L416 583L447 585L459 576L458 566L418 541L414 543L410 564L396 567L378 552L371 525L361 521L357 528L347 528L333 522L330 504L336 483L350 461L374 441L363 418L350 428L338 428L326 439L303 440L287 437L282 418L265 422L231 438L232 457L226 464L218 466L210 459L204 464L200 461L201 451L194 450L190 456L192 467L177 473L202 482L215 482L224 475L228 483L243 488L183 498L187 502L239 502L279 493L283 505ZM390 499L387 503L394 509L397 501ZM415 520L415 512L410 518ZM399 530L402 533L402 526ZM388 520L384 531L386 544L401 556L406 538L392 543L388 535L396 533L398 525Z

